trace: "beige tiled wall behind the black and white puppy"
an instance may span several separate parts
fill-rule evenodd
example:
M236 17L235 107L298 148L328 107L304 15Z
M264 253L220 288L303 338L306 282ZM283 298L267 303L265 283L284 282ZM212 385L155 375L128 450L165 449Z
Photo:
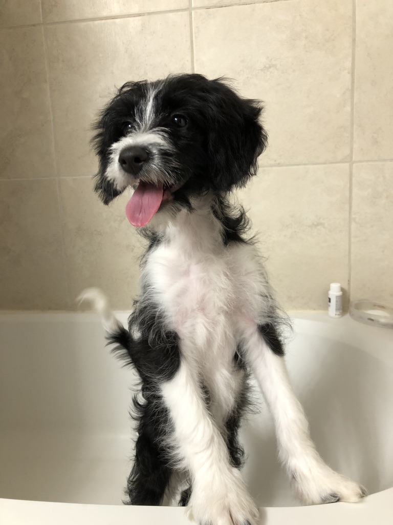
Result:
M116 308L142 241L92 192L94 115L130 79L228 76L266 103L242 192L287 309L329 282L393 302L391 0L0 0L0 308Z

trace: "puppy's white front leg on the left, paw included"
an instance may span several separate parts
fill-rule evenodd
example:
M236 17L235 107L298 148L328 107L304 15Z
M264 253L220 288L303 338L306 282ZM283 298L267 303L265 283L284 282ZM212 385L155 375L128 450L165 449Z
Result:
M174 449L191 475L190 518L203 525L255 525L258 510L240 472L230 464L190 363L182 358L176 374L161 389L173 423Z

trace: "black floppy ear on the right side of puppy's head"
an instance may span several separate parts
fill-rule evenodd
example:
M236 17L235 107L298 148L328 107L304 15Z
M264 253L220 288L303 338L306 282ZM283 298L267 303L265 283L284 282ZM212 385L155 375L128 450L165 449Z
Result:
M215 190L244 186L267 145L257 100L242 99L222 79L210 81L208 154Z

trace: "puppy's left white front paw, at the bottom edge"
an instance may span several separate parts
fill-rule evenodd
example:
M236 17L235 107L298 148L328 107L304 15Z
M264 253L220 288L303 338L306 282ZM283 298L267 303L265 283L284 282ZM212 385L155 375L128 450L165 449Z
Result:
M199 525L257 525L259 512L237 470L223 480L200 486L195 482L187 507L188 517Z

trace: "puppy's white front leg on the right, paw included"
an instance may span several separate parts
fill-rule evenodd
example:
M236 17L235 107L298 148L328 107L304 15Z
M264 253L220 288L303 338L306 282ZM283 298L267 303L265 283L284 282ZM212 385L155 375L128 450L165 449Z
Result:
M363 487L334 472L316 451L303 408L292 392L275 328L255 324L244 331L243 348L274 418L280 460L300 500L312 505L364 497Z

